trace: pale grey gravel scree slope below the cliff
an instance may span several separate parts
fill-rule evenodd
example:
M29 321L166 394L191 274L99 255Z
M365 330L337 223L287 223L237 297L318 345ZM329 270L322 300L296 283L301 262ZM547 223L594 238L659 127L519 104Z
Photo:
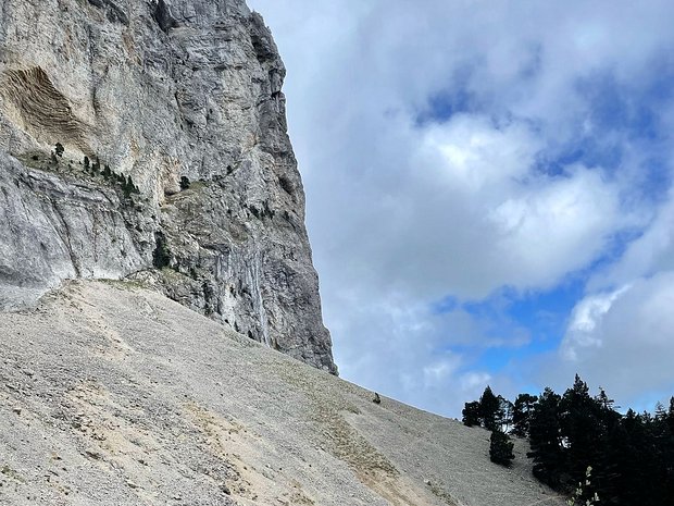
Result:
M138 285L0 314L1 505L552 506L517 448Z

